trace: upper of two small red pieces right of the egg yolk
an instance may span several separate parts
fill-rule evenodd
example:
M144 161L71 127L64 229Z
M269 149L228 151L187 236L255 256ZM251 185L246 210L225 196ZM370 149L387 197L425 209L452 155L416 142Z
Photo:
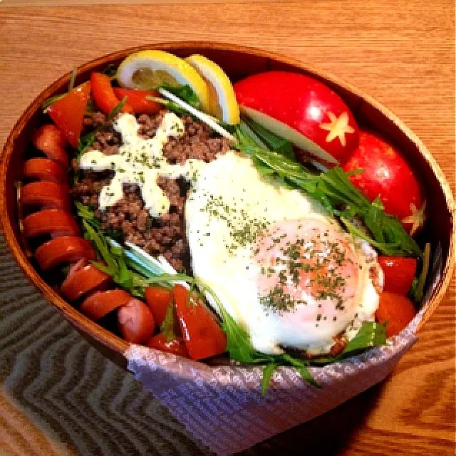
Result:
M385 285L383 291L405 296L412 286L415 277L417 260L415 258L400 257L378 257L383 274L385 275Z

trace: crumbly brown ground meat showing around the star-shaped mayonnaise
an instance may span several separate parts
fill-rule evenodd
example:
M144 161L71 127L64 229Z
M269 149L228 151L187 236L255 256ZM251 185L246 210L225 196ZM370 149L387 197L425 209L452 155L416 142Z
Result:
M166 111L160 111L155 116L140 115L139 134L142 138L152 138L160 125ZM183 163L188 158L197 158L209 162L215 155L229 150L228 140L212 138L209 128L192 120L190 116L182 118L185 124L185 134L179 140L170 140L163 149L163 154L170 163ZM87 129L103 128L95 134L92 148L101 150L107 155L118 153L120 135L113 130L112 123L106 123L103 113L93 113L86 118ZM77 165L74 164L76 169ZM83 204L98 208L98 195L104 185L108 185L113 177L112 172L83 171L80 182L74 185L73 196ZM185 198L187 185L183 180L171 180L160 177L158 185L170 199L170 211L161 217L150 217L136 185L124 185L124 197L101 212L95 211L100 218L102 229L121 234L122 237L138 245L146 252L157 256L162 254L177 271L190 269L190 253L185 238Z

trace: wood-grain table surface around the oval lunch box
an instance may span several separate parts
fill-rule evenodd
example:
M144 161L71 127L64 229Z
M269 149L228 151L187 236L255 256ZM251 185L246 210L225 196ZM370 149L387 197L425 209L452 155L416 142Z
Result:
M425 142L454 189L452 0L60 3L0 4L0 143L73 66L147 42L225 41L300 58L373 95ZM207 454L41 299L3 242L0 268L0 455ZM381 385L245 454L454 455L455 281L419 336Z

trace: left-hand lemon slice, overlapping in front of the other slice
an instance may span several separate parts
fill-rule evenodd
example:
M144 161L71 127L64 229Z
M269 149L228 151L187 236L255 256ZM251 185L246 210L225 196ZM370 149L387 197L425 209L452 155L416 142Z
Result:
M209 89L199 76L182 58L165 51L140 51L130 54L120 63L117 70L120 86L126 88L155 89L162 83L172 86L190 86L205 112L209 109Z

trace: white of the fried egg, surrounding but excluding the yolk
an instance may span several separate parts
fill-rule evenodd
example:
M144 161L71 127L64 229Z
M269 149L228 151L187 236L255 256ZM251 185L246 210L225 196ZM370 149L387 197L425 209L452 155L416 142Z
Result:
M187 198L185 219L193 274L214 290L262 353L283 353L282 347L312 355L328 353L333 336L342 329L347 339L353 338L378 307L378 294L369 276L376 254L366 243L353 245L348 234L344 235L358 255L358 289L336 323L305 321L309 306L318 305L315 301L283 312L260 304L257 280L261 265L253 254L256 232L296 219L318 219L332 229L341 228L303 192L262 177L249 157L230 151L202 167Z

